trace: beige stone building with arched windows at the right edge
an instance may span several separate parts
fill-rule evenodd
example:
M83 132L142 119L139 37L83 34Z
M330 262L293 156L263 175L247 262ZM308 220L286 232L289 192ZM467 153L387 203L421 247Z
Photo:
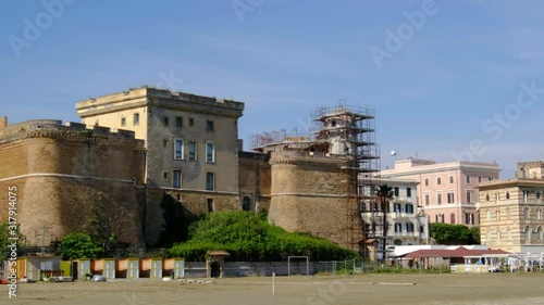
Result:
M544 253L544 162L518 164L518 178L479 186L481 242L508 252Z

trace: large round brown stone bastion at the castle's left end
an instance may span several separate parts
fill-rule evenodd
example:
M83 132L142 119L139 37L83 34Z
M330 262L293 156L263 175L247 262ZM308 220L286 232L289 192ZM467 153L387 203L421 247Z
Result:
M33 120L0 132L0 190L17 188L17 221L30 245L48 245L99 217L122 242L141 246L135 192L145 151L129 131ZM8 202L0 192L0 202ZM0 219L8 219L0 205Z

